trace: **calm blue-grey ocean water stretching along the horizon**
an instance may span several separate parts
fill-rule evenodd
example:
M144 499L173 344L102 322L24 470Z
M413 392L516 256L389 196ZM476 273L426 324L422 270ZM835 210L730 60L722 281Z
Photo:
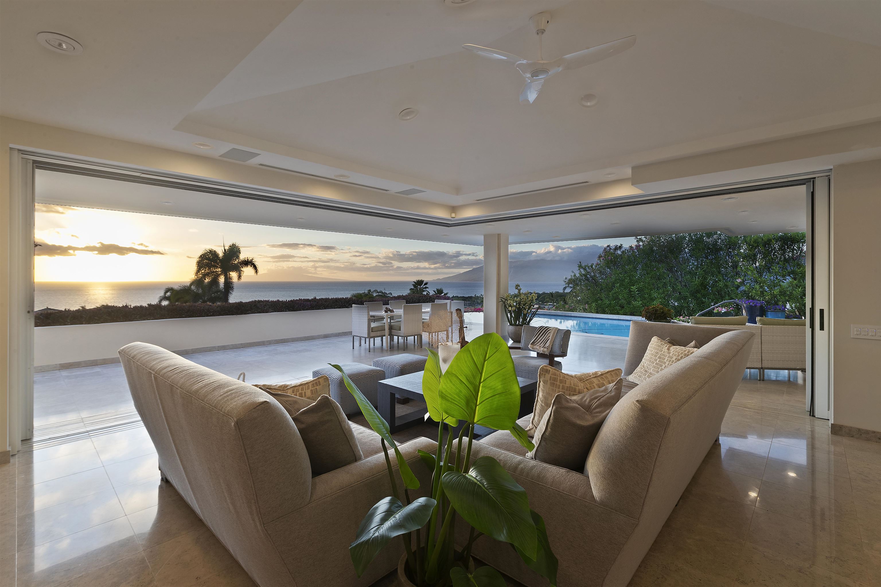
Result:
M78 308L85 305L144 305L155 304L168 286L181 282L36 282L33 307ZM301 297L347 297L357 291L383 290L394 295L410 290L410 282L237 282L231 301L248 302L254 299L298 299ZM509 289L514 291L514 282ZM523 290L560 291L559 282L522 282ZM483 282L428 282L429 290L442 287L452 296L477 296L484 293Z

